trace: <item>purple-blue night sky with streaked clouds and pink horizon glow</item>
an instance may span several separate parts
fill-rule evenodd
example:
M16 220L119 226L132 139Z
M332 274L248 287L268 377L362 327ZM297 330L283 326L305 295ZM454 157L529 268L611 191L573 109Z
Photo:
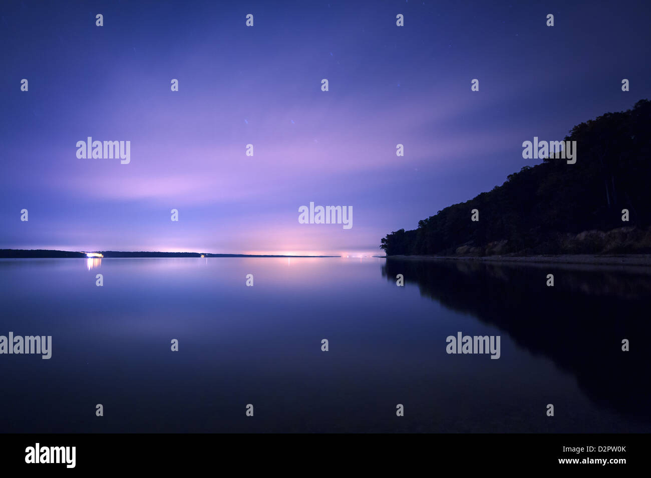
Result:
M0 5L0 248L378 254L540 163L523 141L651 98L648 1L170 3Z

